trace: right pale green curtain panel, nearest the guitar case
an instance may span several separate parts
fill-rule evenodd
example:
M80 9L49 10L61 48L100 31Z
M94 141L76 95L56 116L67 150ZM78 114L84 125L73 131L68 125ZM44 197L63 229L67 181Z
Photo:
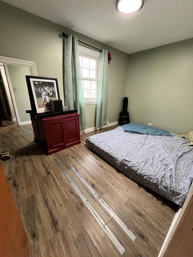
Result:
M107 122L108 104L108 51L102 51L99 61L98 94L96 106L96 127L103 127Z

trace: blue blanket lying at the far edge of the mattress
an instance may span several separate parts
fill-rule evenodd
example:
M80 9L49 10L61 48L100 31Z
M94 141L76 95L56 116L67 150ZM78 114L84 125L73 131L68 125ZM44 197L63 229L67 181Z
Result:
M150 134L155 136L172 136L169 131L151 127L148 125L140 123L129 123L122 125L122 128L125 132L134 133L134 134Z

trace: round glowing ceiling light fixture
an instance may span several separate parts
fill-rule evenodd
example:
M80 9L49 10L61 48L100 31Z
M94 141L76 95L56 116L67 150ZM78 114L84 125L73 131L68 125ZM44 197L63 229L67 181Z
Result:
M133 14L144 5L144 0L117 0L116 9L121 14Z

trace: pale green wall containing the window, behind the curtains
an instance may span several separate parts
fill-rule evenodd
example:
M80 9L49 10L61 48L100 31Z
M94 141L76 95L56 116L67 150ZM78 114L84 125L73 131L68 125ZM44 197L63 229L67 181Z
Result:
M61 33L75 34L80 41L99 49L107 49L112 56L109 64L107 120L109 123L118 121L125 92L128 54L1 1L0 22L0 56L34 61L37 76L57 78L63 104ZM96 105L85 105L85 109L87 127L94 127Z

